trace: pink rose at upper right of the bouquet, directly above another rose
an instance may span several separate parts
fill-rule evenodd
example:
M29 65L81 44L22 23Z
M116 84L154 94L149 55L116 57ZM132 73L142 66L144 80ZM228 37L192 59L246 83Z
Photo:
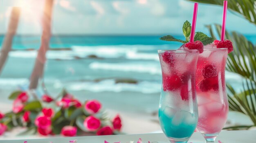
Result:
M89 100L85 102L85 110L90 114L95 114L101 109L101 103L97 100Z

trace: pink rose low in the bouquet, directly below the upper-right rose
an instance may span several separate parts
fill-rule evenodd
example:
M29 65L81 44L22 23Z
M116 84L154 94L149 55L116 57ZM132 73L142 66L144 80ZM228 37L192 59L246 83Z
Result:
M96 131L101 126L101 121L93 116L89 116L85 119L83 125L89 131Z

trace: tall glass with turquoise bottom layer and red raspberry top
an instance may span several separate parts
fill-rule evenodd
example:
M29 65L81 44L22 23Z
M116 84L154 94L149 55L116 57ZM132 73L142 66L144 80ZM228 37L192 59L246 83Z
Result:
M187 143L198 122L195 70L198 50L159 50L162 90L159 123L171 143Z

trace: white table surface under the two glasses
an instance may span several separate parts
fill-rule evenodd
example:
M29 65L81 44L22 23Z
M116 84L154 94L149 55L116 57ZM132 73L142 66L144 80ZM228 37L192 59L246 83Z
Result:
M25 137L24 137L25 138ZM77 140L77 143L109 143L119 142L130 143L141 138L144 143L150 141L150 143L169 143L166 136L162 133L152 134L129 134L129 135L112 135L112 136L77 136L77 137L58 137L48 139L22 139L22 140L0 140L0 143L69 143L70 140ZM244 131L222 131L216 139L222 143L256 143L256 130L244 130ZM204 143L204 138L199 132L195 132L188 143Z

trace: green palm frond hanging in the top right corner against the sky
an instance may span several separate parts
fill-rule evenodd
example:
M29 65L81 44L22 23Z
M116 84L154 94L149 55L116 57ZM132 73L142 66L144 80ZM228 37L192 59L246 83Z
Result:
M223 0L190 0L205 4L223 5ZM256 0L229 0L228 8L243 15L249 22L256 25Z

